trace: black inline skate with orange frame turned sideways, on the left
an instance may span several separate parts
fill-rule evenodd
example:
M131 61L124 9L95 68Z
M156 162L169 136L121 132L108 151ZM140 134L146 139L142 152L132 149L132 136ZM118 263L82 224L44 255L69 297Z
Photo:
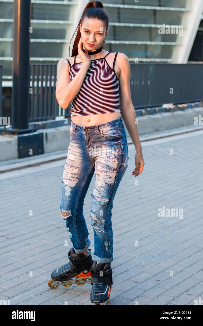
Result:
M91 266L93 264L91 249L88 249L87 255L76 254L73 247L68 252L69 262L51 273L51 280L48 286L51 289L59 285L69 287L72 284L84 285L90 283L92 279Z

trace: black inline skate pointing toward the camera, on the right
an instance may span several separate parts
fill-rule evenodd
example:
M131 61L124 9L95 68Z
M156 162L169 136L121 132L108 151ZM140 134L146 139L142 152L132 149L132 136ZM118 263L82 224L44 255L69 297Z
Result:
M94 304L108 304L113 284L111 264L96 263L94 261L91 272L93 278L91 280L92 291L90 301Z

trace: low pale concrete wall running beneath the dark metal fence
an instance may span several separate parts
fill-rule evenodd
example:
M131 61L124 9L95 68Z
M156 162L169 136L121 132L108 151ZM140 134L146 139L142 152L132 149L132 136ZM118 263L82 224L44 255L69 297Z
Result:
M193 126L194 117L203 116L203 108L185 109L184 111L164 112L154 115L138 117L139 135L151 134L154 132L166 131L172 128ZM201 123L201 122L200 122ZM129 141L130 135L125 127L126 136ZM39 129L37 133L43 133L44 153L67 149L70 141L70 126L63 126L50 129ZM26 134L32 137L33 134ZM25 135L24 135L25 136ZM18 137L16 135L0 135L0 161L18 158ZM28 153L29 157L29 153Z

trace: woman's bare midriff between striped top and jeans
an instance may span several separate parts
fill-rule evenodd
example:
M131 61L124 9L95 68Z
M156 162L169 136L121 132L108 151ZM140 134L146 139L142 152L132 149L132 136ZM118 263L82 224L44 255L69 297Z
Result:
M101 114L71 116L71 120L79 126L96 126L106 122L110 122L121 117L120 112L109 112Z

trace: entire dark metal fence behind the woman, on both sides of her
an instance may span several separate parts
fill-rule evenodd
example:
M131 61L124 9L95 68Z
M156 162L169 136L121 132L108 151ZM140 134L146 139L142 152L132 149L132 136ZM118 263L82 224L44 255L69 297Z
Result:
M203 100L203 64L130 63L131 98L135 109ZM70 117L70 105L62 109L55 96L57 64L30 65L29 122ZM0 116L2 113L2 66L0 66ZM7 99L8 101L8 99ZM11 101L11 98L10 98ZM11 102L10 102L11 106ZM7 115L7 114L6 114Z

